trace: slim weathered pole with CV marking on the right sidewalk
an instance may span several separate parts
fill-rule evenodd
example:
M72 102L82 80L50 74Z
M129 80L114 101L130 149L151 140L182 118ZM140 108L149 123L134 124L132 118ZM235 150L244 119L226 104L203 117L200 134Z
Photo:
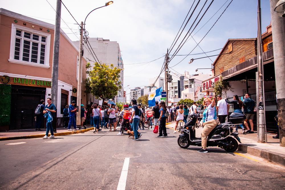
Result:
M257 70L258 70L258 134L257 142L266 142L266 127L265 127L265 111L264 111L264 80L263 80L263 57L262 57L262 40L261 40L261 8L260 0L257 3ZM251 126L253 127L253 126ZM251 129L253 130L253 129Z

